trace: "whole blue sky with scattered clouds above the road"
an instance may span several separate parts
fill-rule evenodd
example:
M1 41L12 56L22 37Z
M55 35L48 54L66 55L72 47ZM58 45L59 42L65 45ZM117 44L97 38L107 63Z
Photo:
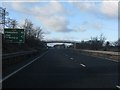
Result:
M9 17L41 26L44 40L89 40L101 34L118 40L118 0L1 0Z

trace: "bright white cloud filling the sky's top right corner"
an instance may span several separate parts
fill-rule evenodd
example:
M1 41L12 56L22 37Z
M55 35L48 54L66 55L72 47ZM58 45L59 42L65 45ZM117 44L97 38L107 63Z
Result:
M80 12L87 12L94 16L99 15L109 19L118 18L118 0L102 0L101 2L70 2Z

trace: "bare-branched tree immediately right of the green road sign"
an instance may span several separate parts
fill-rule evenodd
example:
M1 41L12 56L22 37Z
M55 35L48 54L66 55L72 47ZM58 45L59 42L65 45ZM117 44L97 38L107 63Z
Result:
M44 47L45 43L41 40L43 39L43 32L41 27L35 27L33 23L26 19L23 25L25 29L25 40L31 47Z

